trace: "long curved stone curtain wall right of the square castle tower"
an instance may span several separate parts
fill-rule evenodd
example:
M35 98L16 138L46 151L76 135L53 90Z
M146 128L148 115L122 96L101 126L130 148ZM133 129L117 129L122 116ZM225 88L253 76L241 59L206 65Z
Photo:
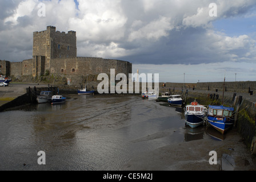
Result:
M115 75L125 73L128 76L132 65L127 61L102 59L101 57L73 57L51 59L49 71L51 74L66 77L71 85L80 86L85 81L100 82L97 81L98 74L110 75L110 69L115 69Z

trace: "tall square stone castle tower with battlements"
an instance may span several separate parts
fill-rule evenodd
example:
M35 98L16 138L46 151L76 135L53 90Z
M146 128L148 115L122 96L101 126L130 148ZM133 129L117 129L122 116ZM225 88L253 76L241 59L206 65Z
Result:
M47 26L47 30L33 32L33 76L41 76L50 69L54 58L77 57L77 36L75 31L56 31L56 27Z

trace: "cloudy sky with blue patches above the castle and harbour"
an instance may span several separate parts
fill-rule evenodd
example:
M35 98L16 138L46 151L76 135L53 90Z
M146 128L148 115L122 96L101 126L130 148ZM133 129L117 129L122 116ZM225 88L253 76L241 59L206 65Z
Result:
M1 0L0 60L31 59L47 26L160 82L256 81L255 0Z

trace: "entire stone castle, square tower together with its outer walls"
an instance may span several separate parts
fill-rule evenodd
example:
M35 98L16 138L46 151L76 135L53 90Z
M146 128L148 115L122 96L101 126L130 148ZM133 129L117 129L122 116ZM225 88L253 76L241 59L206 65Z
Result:
M67 84L80 86L87 81L96 81L99 73L125 73L132 71L128 61L102 59L101 57L77 57L77 36L75 31L56 31L56 27L47 26L47 30L33 32L33 59L20 62L0 60L0 72L3 75L20 78L43 75L62 77Z

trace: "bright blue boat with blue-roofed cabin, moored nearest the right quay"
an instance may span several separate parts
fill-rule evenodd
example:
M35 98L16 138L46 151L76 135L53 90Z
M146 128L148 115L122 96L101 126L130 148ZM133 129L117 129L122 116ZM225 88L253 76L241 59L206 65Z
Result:
M233 112L233 107L209 105L207 122L221 134L224 134L226 130L234 125Z

